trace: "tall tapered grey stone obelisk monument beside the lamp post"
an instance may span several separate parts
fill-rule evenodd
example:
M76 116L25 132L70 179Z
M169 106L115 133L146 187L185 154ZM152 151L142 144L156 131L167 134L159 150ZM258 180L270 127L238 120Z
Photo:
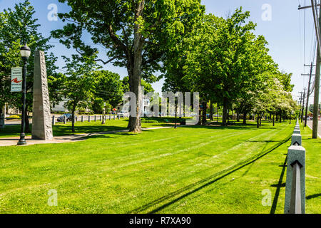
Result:
M51 140L49 90L44 51L34 54L34 105L32 109L32 139Z

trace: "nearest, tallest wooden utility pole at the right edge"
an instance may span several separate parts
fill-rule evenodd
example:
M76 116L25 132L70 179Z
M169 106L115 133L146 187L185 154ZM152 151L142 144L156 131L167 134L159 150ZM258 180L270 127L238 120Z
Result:
M307 9L312 8L312 14L315 24L315 33L317 35L317 63L316 63L316 69L315 69L315 100L313 105L313 125L312 125L312 138L317 138L317 125L318 125L318 118L319 118L319 93L320 93L320 67L321 67L321 41L320 41L320 28L321 28L321 7L319 12L319 19L317 19L317 11L315 4L315 0L311 0L311 6L305 6L301 7L300 9ZM319 25L317 24L319 23Z

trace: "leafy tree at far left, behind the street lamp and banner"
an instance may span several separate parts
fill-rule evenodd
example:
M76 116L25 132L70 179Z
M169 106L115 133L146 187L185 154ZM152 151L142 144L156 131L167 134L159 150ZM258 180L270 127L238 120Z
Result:
M0 99L3 103L9 103L21 108L21 93L10 93L10 71L11 67L22 66L19 49L26 44L31 48L31 56L27 66L26 90L33 88L34 82L34 52L36 50L44 51L46 57L46 68L49 76L56 70L53 53L49 49L49 38L39 33L37 24L38 19L34 18L34 7L30 1L25 0L15 4L14 9L5 9L0 12L0 74L4 80L0 84ZM2 79L2 78L1 78ZM26 95L26 132L29 132L28 111L32 109L32 93ZM0 104L1 105L1 104Z

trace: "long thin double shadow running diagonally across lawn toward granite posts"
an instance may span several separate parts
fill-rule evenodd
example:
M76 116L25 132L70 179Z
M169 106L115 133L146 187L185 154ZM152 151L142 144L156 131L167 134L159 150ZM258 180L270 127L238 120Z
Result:
M161 205L160 207L157 207L156 209L149 211L148 214L159 212L159 211L161 211L161 209L164 209L165 207L170 206L170 204L178 202L180 199L188 197L189 195L191 195L195 192L198 192L199 190L202 190L204 187L212 185L213 183L217 182L218 180L223 179L224 177L227 177L228 175L232 174L233 172L238 171L238 170L242 169L243 167L246 167L246 166L252 164L253 162L259 160L261 157L264 157L265 155L269 154L270 152L276 150L278 147L280 147L285 142L290 140L291 135L292 135L292 133L289 136L287 136L287 138L285 138L285 140L278 142L276 145L270 147L267 150L263 150L258 155L254 155L253 157L250 157L247 160L239 162L238 164L233 165L232 167L229 167L228 169L222 170L220 172L216 172L214 175L211 175L210 177L206 177L203 180L199 180L198 182L187 185L187 186L181 188L180 190L176 190L175 192L171 192L168 195L165 195L163 197L155 199L152 202L149 202L148 204L145 204L145 205L138 207L136 209L133 209L131 212L128 212L128 213L140 213L140 212L148 210L151 207L156 206L157 204L163 203L165 200L176 197L175 199L172 199L170 202L165 203L165 204ZM198 185L200 185L200 186L197 187ZM194 187L196 187L196 188L193 189ZM189 190L189 192L186 192L185 194L178 197L178 195L180 195L183 192L188 191L188 190Z

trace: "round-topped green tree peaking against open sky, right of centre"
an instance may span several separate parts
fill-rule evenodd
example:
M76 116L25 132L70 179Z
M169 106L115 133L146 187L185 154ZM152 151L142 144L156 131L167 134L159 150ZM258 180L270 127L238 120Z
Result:
M249 16L242 8L228 19L206 15L190 38L185 66L188 81L202 92L203 99L215 98L223 105L223 125L227 110L251 76L255 24L246 22Z

